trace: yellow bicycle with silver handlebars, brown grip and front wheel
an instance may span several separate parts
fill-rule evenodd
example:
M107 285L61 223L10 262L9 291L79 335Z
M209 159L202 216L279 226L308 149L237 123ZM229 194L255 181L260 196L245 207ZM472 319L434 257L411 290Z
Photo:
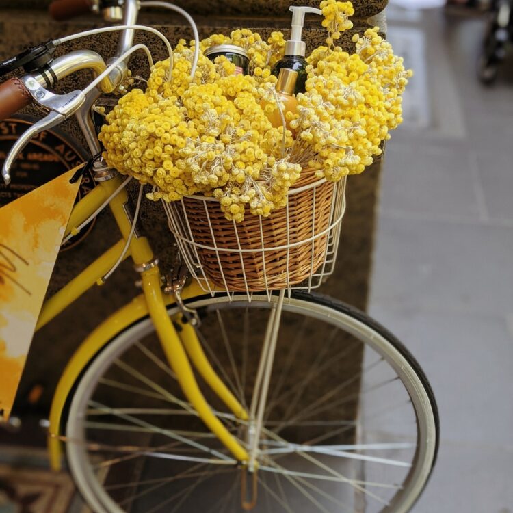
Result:
M308 511L407 512L436 460L438 412L427 378L402 343L364 313L313 292L336 259L343 187L328 231L315 236L329 246L321 270L279 291L250 291L246 277L242 291L226 285L226 277L220 280L226 287L211 282L198 254L201 244L187 238L183 202L166 212L186 265L161 269L148 239L137 234L142 187L131 211L128 180L103 161L91 112L101 93L116 90L127 76L129 55L142 47L133 45L135 29L153 30L136 25L139 9L150 4L163 3L94 4L96 10L103 5L109 18L122 14L119 27L98 29L121 33L108 64L92 51L50 56L42 68L0 86L10 95L9 105L1 105L4 117L29 101L50 110L12 148L5 181L32 135L75 114L98 186L74 207L64 240L106 205L121 234L45 302L36 329L105 282L129 256L142 287L66 366L49 417L51 466L61 469L65 445L77 488L98 513L295 512L305 510L304 503ZM47 89L82 68L96 74L86 93ZM207 249L218 259L223 250ZM293 260L295 248L280 249L287 263ZM244 250L239 246L235 254L244 270ZM383 406L390 397L394 404ZM161 500L156 494L164 487L168 495Z

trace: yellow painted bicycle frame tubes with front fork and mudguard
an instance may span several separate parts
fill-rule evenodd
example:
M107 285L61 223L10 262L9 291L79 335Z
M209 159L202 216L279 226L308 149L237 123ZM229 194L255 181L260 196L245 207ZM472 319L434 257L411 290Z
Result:
M68 222L65 237L69 233L75 233L77 231L76 227L96 211L118 189L121 183L122 179L120 176L101 182L98 187L78 202ZM131 230L131 219L124 209L124 205L127 205L128 200L126 190L121 189L109 202L109 207L114 214L122 235L120 241L45 302L36 330L51 321L51 319L73 303L96 282L101 283L102 276L116 263ZM140 267L145 267L145 264L155 260L153 250L146 237L132 237L129 251L127 252L128 256L131 256L135 265ZM155 325L155 331L163 347L164 354L166 354L168 363L176 374L185 397L187 397L205 425L231 451L233 457L239 462L247 462L249 456L246 449L226 430L218 417L213 414L205 397L203 397L196 378L194 378L191 362L202 378L205 379L205 382L209 384L211 389L222 399L224 404L237 418L247 420L248 412L246 412L244 406L237 401L211 367L198 341L194 328L190 324L183 324L183 329L180 333L174 329L168 315L168 306L174 304L175 300L172 296L163 295L161 291L161 272L158 265L153 267L146 265L146 270L141 272L141 279L142 295L139 295L129 304L120 308L114 315L105 319L83 341L64 369L53 397L49 419L49 454L52 468L55 470L61 468L63 410L73 385L77 382L81 372L88 367L96 354L116 334L119 334L135 321L147 315L150 316ZM197 282L192 282L189 287L182 291L184 299L194 298L203 294Z

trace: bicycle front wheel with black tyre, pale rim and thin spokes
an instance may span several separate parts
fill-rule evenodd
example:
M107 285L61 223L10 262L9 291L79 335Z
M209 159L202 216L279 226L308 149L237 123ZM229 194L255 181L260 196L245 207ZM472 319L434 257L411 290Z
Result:
M213 367L248 406L267 295L189 306ZM198 382L250 447L252 419L237 419ZM257 513L406 513L436 459L438 414L423 371L393 335L341 302L296 292L283 306L255 473L187 402L150 319L120 332L88 367L66 438L70 470L96 513L233 513L248 494Z

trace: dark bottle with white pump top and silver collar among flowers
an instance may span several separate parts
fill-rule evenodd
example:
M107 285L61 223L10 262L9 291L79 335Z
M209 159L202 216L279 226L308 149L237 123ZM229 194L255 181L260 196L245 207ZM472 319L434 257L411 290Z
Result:
M298 72L298 79L295 81L294 94L305 92L306 90L306 44L302 41L302 31L304 25L304 15L307 12L322 14L320 9L314 7L300 7L291 5L292 11L292 31L291 38L285 43L285 57L276 62L272 69L272 74L280 75L280 69L289 68Z

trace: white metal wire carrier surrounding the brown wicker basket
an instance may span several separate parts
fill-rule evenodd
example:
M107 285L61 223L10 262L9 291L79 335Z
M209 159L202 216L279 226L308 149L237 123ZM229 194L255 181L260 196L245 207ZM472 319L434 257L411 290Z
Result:
M292 196L293 194L298 194L300 192L304 192L308 189L313 189L313 209L312 209L312 219L315 220L315 209L316 209L316 192L319 185L322 185L326 183L326 179L320 179L318 181L315 181L314 183L304 185L302 187L292 188L289 189L288 196ZM198 283L200 284L200 287L203 291L210 293L211 295L215 295L215 293L226 293L229 298L233 298L233 295L236 293L236 291L231 290L227 283L226 279L224 278L224 272L222 268L222 263L219 258L220 252L231 252L231 253L237 253L239 254L239 257L241 259L241 269L242 274L244 276L244 282L246 284L246 294L248 295L248 301L252 298L252 292L248 289L248 282L246 280L246 269L244 268L244 259L242 258L242 254L244 253L259 253L261 252L263 255L265 255L265 252L267 251L274 251L274 250L287 250L287 273L288 273L288 263L289 259L293 258L291 257L291 250L293 248L296 248L298 246L302 246L303 244L312 244L312 261L311 261L311 274L310 276L304 280L304 282L296 285L292 285L289 280L289 276L287 276L287 283L288 286L286 287L286 290L290 294L291 290L295 289L301 289L306 291L311 291L312 289L317 289L320 287L320 285L326 280L330 274L334 271L334 265L335 261L337 260L337 251L339 246L339 239L341 234L341 222L343 215L345 213L345 184L346 184L346 177L344 176L341 181L334 184L334 191L333 191L333 198L332 203L330 207L330 218L329 218L329 224L328 228L324 229L323 231L319 233L314 233L311 237L307 237L306 239L302 241L297 241L292 244L285 244L282 246L272 246L272 247L266 247L263 240L263 228L262 228L262 220L260 218L259 220L259 226L260 226L260 237L262 241L262 247L261 248L252 248L252 249L244 249L241 248L238 233L237 233L237 223L233 221L235 234L237 237L237 245L238 248L222 248L218 246L205 246L205 244L199 244L194 240L194 235L191 230L191 224L189 222L188 216L187 216L187 210L185 209L185 204L183 200L175 201L175 202L164 202L163 207L164 211L166 211L166 215L168 216L168 226L170 228L171 233L174 235L176 239L176 244L179 246L179 250L181 252L181 256L183 257L185 264L187 265L187 268L189 269L189 272L192 274L193 278L195 278ZM218 199L213 197L206 197L206 196L188 196L188 198L192 198L197 201L202 201L205 206L205 213L207 214L207 219L209 222L209 228L212 236L212 240L215 243L215 233L213 230L213 226L211 224L210 215L209 215L209 209L207 208L207 202L218 202ZM287 205L283 207L287 211L287 225L289 224L289 204L287 202ZM315 223L313 223L313 226L315 226ZM317 266L317 269L314 269L314 261L313 261L313 246L315 243L315 240L319 237L323 237L324 235L328 236L328 241L326 244L326 254L324 256L324 260L321 262L320 265ZM287 240L289 240L289 234L287 233ZM218 263L220 265L220 271L222 274L222 280L224 283L224 289L215 289L211 285L211 282L205 275L205 272L202 269L202 266L200 264L200 258L198 255L197 248L204 248L207 250L211 250L215 252ZM263 259L263 273L264 273L264 280L265 280L265 293L267 293L267 297L270 300L270 296L272 294L272 289L269 289L267 287L267 274L265 271L265 258ZM240 293L240 291L237 291L237 293Z

